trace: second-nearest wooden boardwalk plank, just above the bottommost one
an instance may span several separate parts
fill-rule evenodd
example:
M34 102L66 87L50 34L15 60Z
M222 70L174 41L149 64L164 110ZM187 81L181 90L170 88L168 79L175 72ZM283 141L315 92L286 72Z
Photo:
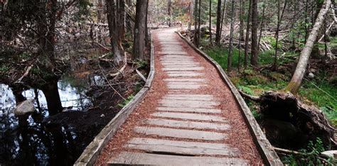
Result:
M125 148L145 150L150 153L173 153L179 155L239 155L237 148L223 143L200 143L154 138L132 138Z

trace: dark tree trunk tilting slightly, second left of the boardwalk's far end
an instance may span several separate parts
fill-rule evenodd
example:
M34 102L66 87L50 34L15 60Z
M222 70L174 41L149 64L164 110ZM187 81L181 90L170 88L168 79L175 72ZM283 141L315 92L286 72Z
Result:
M107 1L107 23L109 26L109 37L112 46L112 52L114 53L114 64L120 65L122 62L122 41L119 38L119 19L117 16L117 4L114 1Z

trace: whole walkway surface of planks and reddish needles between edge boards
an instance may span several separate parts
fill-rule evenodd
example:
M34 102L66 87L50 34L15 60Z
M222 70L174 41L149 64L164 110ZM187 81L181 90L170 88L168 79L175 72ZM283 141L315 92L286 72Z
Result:
M174 33L154 33L156 74L96 165L262 164L218 72ZM224 57L225 58L225 57Z

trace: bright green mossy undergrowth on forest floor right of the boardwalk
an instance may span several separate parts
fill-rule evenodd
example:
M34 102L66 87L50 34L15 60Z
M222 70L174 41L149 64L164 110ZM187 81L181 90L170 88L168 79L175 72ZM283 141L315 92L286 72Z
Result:
M336 40L337 42L337 40ZM218 64L227 70L228 62L228 49L226 48L205 48L204 51L212 57ZM278 70L276 72L271 70L262 70L257 72L248 68L243 69L243 49L240 56L240 72L234 70L230 73L230 79L237 89L242 90L247 94L259 96L266 91L282 91L284 87L287 87L289 80L291 79L291 72L289 70ZM280 53L282 59L278 60L278 64L282 65L294 62L296 58L291 58L298 55L298 52L285 52ZM260 65L271 65L274 61L274 51L267 50L260 52L259 62ZM233 50L232 55L232 67L237 67L239 60L238 50ZM311 81L304 79L302 86L299 90L299 98L306 104L314 105L321 109L324 114L331 121L333 126L337 126L337 88L331 84L331 81L326 79L326 75L322 71L319 71L315 78ZM252 114L255 118L260 118L258 113L258 106L252 101L247 101L247 105L250 106Z

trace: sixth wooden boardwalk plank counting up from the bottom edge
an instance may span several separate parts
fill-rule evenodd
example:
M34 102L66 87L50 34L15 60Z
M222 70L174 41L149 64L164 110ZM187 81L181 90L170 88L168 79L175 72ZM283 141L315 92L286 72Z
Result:
M172 111L172 112L197 112L197 113L221 113L220 109L200 109L200 108L187 108L187 107L162 107L156 108L157 111Z

